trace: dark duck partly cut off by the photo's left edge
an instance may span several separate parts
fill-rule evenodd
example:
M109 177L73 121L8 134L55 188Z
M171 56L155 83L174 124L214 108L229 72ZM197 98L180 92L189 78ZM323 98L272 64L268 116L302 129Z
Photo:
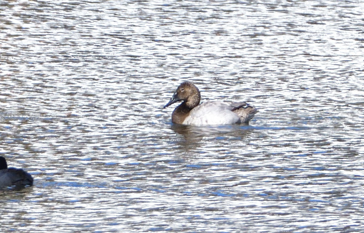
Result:
M6 159L0 156L0 187L33 185L33 177L23 169L8 167Z

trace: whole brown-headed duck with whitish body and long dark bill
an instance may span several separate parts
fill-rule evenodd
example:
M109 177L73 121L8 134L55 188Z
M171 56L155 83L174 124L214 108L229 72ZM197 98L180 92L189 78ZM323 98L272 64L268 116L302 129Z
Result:
M240 123L248 125L258 111L257 108L245 102L227 104L220 101L207 101L199 104L200 100L201 94L198 88L191 82L183 82L164 108L183 101L174 109L172 122L194 126Z

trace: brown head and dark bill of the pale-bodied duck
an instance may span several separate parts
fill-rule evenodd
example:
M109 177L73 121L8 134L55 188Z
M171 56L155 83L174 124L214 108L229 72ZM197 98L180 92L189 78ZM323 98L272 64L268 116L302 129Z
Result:
M177 90L174 92L171 100L164 106L168 107L171 104L182 101L189 109L196 107L200 103L201 94L198 88L191 82L183 82L178 87Z

